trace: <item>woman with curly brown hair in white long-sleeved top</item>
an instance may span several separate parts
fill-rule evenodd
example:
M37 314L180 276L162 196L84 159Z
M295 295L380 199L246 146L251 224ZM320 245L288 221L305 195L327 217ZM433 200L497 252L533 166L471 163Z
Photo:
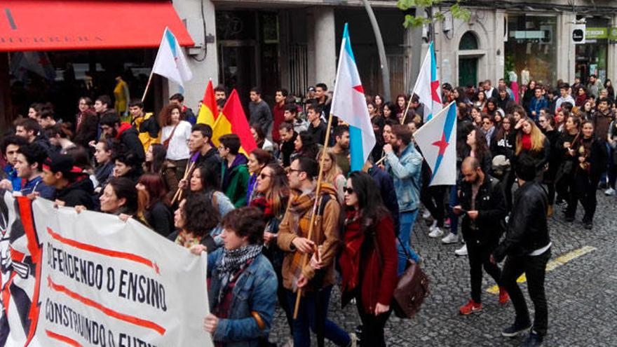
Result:
M187 144L191 137L191 123L182 119L182 107L168 104L158 113L161 144L167 150L166 158L176 165L176 177L182 179L191 153Z

